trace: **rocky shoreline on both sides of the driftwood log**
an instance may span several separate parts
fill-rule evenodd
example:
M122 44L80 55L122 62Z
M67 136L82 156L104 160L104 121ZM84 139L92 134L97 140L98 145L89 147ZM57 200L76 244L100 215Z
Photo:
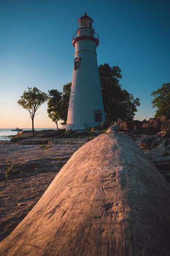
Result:
M108 127L65 132L24 131L0 141L0 241L25 218L72 154ZM121 124L170 183L170 121L164 117Z

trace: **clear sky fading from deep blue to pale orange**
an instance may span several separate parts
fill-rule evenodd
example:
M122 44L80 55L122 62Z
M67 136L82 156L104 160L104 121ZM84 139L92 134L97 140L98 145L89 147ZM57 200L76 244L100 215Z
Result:
M16 103L27 87L62 91L74 63L71 36L87 12L100 36L98 65L119 66L139 97L135 119L153 117L151 93L170 82L169 0L0 0L0 128L31 127ZM55 127L40 106L35 127Z

